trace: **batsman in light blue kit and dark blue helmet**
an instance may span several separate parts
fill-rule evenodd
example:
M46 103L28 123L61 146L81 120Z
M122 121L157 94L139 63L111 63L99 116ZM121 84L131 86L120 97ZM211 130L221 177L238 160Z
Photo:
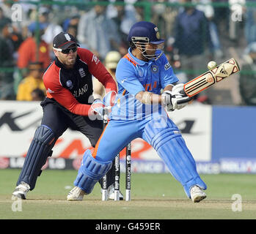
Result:
M135 23L129 31L128 42L128 53L117 64L118 94L109 124L93 153L85 151L75 188L67 200L78 200L78 190L86 195L92 192L96 182L111 168L114 156L131 140L140 137L164 160L187 197L198 203L206 197L203 190L207 186L197 173L180 130L164 110L164 107L180 110L191 98L183 94L183 84L175 85L178 78L164 55L164 39L155 24ZM102 107L97 111L101 113Z

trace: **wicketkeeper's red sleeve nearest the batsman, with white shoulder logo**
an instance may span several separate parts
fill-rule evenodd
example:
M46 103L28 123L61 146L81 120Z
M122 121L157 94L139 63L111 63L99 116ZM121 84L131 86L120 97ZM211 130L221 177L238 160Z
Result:
M89 72L103 84L106 89L106 93L109 91L117 92L117 83L97 56L84 48L78 48L78 56L80 56L82 61L88 64Z

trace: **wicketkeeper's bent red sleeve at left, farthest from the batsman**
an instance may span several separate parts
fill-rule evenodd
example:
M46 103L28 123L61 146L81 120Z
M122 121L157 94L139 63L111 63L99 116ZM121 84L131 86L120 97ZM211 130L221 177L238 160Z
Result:
M63 88L59 83L59 72L53 71L55 68L54 63L51 64L51 67L45 72L43 76L43 83L47 90L47 97L54 98L56 102L65 107L71 113L74 113L79 116L88 116L90 113L89 108L90 105L79 103L75 97L67 90L67 88Z

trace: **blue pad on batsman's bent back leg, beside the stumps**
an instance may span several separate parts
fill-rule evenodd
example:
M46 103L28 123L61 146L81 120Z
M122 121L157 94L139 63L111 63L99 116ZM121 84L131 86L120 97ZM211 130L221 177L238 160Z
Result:
M100 178L103 178L110 170L111 166L111 161L100 162L92 156L91 151L85 151L74 185L88 195Z

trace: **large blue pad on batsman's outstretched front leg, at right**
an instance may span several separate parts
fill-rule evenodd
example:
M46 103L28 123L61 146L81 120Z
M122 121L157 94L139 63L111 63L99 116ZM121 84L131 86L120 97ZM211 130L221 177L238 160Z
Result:
M206 184L197 173L196 162L191 155L183 137L180 135L178 127L172 122L164 128L145 129L147 140L155 148L161 159L164 160L170 173L180 184L182 184L186 195L190 197L191 186L198 185L206 189Z

